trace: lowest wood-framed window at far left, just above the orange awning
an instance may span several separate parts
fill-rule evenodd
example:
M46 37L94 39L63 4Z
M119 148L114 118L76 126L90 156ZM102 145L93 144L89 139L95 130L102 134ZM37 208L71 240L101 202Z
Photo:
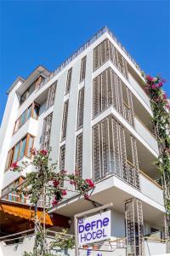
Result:
M17 178L13 183L10 183L6 188L2 190L2 198L8 201L18 201L25 202L26 198L20 198L20 193L14 191L14 189L18 188L21 183L25 180L24 177Z

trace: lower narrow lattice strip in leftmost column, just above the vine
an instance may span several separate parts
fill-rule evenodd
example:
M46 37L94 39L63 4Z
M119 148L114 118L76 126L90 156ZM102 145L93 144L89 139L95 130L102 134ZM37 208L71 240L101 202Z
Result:
M43 119L42 142L41 142L42 149L49 148L52 119L53 119L53 113L50 113L45 119Z

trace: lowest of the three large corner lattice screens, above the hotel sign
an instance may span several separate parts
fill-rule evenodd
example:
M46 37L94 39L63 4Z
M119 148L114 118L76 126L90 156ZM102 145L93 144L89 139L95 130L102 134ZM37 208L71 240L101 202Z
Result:
M94 180L112 172L140 189L138 154L135 138L131 137L133 166L127 163L125 131L111 116L93 128Z

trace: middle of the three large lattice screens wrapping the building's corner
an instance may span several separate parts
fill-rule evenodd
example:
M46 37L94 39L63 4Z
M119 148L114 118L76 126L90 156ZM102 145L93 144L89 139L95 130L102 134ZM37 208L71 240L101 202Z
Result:
M122 86L125 88L124 94L127 94L129 107L123 102ZM107 68L94 79L93 103L94 116L112 105L134 126L132 93L111 68Z

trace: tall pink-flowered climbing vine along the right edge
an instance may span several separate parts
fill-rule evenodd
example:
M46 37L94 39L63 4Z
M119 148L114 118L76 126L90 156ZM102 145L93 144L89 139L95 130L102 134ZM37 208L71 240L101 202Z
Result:
M155 129L160 154L156 165L161 174L161 184L164 192L164 205L166 209L166 235L170 240L170 102L162 90L166 82L161 76L152 78L144 76L144 88L150 96L153 110L153 126Z

